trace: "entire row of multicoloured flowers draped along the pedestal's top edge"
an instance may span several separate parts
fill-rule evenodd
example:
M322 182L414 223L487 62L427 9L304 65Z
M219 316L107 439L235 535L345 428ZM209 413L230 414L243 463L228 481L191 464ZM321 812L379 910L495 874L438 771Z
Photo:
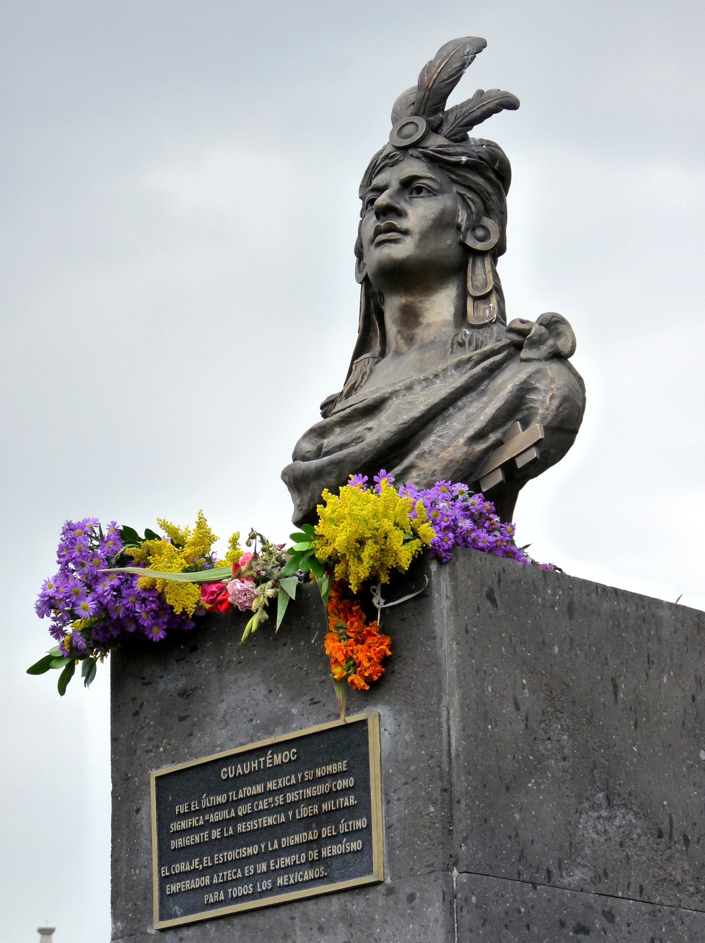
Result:
M88 687L97 662L131 638L158 642L175 630L192 629L194 617L231 607L253 614L245 641L269 618L272 599L278 601L278 631L297 587L309 578L318 584L325 608L324 648L342 717L347 688L369 689L391 654L391 639L380 632L380 589L392 571L407 571L426 550L445 563L455 546L536 565L525 547L516 546L514 524L500 521L491 501L461 483L397 489L383 469L371 488L367 476L351 475L337 495L324 490L322 501L318 522L303 524L286 551L285 544L252 530L246 540L251 552L242 551L235 533L222 559L213 551L218 538L202 511L192 529L157 519L163 533L147 529L144 537L115 521L105 532L95 518L66 521L58 572L45 580L35 604L37 615L51 620L49 633L58 644L28 673L60 669L63 695L81 664ZM359 596L366 584L378 613L371 622Z

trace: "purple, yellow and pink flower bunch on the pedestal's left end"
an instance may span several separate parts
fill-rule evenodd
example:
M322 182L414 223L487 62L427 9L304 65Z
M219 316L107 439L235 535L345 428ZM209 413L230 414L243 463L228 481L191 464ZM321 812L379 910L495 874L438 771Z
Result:
M277 595L275 581L286 562L284 544L276 547L253 531L246 543L254 544L254 553L244 554L235 533L219 560L212 549L218 538L203 511L192 530L156 522L164 531L161 537L147 529L140 538L115 521L104 533L95 518L66 521L61 528L58 572L44 581L35 604L37 615L51 620L49 634L58 644L28 670L61 669L59 694L66 692L79 663L89 687L97 663L130 638L158 642L173 630L192 629L193 617L214 608L225 611L231 604L254 612L243 639L268 618L265 610ZM224 586L213 583L217 576L226 577Z

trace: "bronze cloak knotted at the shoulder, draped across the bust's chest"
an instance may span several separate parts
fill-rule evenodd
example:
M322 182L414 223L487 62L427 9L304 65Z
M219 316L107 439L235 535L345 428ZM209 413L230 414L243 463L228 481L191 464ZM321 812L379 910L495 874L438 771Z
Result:
M566 455L580 428L585 388L566 359L574 349L566 320L542 315L535 324L510 323L506 339L481 350L461 348L420 375L338 399L299 439L282 472L292 520L315 521L323 488L339 488L357 472L371 481L384 468L397 485L419 488L441 480L479 488L476 472L509 427L540 422L540 456L515 472L516 494Z

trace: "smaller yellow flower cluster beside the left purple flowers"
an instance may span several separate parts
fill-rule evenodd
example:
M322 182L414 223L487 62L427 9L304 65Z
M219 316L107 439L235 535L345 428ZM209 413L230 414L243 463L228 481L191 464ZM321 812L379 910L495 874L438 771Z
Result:
M139 547L125 550L126 554L132 556L135 563L146 564L147 570L183 573L189 570L189 567L192 567L196 561L210 554L213 544L218 539L208 526L203 511L198 512L193 530L190 527L178 527L171 521L164 521L161 518L157 518L156 522L170 540L144 540ZM228 552L221 563L227 566L238 560L241 555L239 534L233 534L228 541ZM201 588L195 583L174 583L172 580L140 576L138 586L142 589L156 587L177 615L186 611L189 616L192 616L201 599Z

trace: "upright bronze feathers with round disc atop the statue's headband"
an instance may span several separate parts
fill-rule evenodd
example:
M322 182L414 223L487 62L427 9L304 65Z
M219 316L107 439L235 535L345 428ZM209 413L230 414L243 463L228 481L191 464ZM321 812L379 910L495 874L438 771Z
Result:
M478 89L472 98L446 111L451 91L465 74L467 67L487 42L477 36L463 36L441 46L418 74L415 86L402 94L392 108L392 130L389 143L395 147L412 147L429 131L447 141L467 141L468 132L504 108L516 110L516 95L500 89Z

